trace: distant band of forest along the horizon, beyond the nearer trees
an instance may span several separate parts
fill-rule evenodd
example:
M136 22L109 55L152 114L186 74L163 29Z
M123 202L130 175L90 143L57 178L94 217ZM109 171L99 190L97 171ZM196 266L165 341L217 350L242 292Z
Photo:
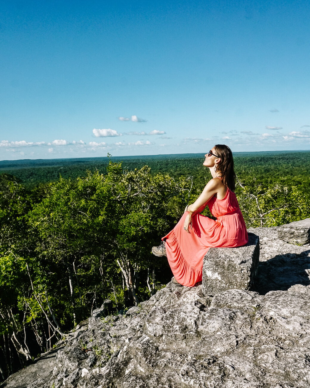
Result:
M172 177L191 175L194 181L198 179L205 184L210 176L202 166L203 159L203 154L111 158L115 162L122 161L123 168L128 170L148 165L152 174L164 173ZM40 183L55 182L60 176L65 179L83 177L87 170L105 174L108 163L108 158L2 161L0 171L14 175L28 187L34 187ZM234 163L241 180L252 176L264 185L302 185L305 189L310 186L310 151L237 152Z

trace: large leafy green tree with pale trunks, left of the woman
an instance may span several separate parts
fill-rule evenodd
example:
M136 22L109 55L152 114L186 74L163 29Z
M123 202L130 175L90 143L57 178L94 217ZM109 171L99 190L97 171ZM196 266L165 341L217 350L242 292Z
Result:
M106 175L88 172L76 182L60 178L50 184L29 223L41 239L38 254L67 274L75 323L77 305L81 310L90 291L81 276L90 272L100 274L102 294L112 277L121 275L118 284L123 279L129 299L138 304L136 276L153 262L150 246L171 227L169 201L189 187L188 180L153 177L147 166L128 171L112 162Z

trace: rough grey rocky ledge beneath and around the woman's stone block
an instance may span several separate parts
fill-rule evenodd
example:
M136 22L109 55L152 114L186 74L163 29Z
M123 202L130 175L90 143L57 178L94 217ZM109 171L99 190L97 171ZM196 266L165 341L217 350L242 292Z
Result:
M252 291L212 297L169 283L126 315L96 312L50 374L24 386L308 388L310 247L280 240L277 228L249 231L260 237Z

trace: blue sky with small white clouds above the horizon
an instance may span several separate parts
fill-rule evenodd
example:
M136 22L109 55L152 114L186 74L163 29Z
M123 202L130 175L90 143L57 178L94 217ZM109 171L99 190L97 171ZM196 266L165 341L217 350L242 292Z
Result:
M3 1L0 159L310 149L308 1Z

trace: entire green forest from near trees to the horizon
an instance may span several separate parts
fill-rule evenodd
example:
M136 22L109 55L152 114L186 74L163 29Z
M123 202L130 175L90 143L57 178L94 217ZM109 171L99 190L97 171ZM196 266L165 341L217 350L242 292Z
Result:
M105 299L115 314L171 279L151 247L210 179L203 155L5 161L0 167L0 377ZM310 217L310 152L234 156L248 227ZM208 209L203 214L210 215Z

